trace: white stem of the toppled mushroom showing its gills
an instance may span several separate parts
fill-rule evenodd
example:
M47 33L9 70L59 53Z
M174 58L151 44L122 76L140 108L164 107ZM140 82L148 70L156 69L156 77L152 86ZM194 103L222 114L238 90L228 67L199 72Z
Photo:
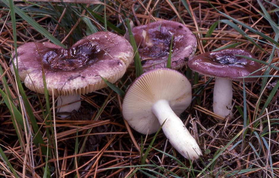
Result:
M158 118L164 134L172 146L185 158L197 159L202 151L180 118L173 112L167 100L159 100L152 106L152 112Z

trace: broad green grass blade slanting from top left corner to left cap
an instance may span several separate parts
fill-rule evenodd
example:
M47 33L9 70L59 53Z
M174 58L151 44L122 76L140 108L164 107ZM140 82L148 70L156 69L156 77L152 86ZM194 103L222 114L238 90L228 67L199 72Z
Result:
M9 5L8 0L2 0L5 4ZM11 1L11 0L9 0ZM32 27L34 27L39 33L44 35L47 39L52 41L54 44L57 44L59 46L62 46L66 48L64 44L62 44L59 40L57 40L54 36L52 36L45 28L43 28L41 25L39 25L35 20L33 20L30 16L28 16L25 12L23 12L20 8L13 5L13 8L15 12L24 20L26 20L27 23L29 23Z

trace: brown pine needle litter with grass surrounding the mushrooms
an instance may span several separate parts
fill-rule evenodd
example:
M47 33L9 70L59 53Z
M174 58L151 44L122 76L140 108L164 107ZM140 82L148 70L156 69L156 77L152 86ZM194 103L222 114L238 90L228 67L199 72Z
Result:
M279 177L279 1L1 0L0 9L0 177ZM11 73L15 47L32 41L69 47L105 27L123 36L126 18L136 26L177 21L195 34L196 55L238 47L261 63L256 82L232 82L231 118L213 113L214 78L179 70L193 94L180 118L200 159L186 160L162 131L153 139L130 128L123 98L109 87L81 95L80 109L68 118L54 118L57 97L29 90ZM134 79L132 66L114 85L125 92Z

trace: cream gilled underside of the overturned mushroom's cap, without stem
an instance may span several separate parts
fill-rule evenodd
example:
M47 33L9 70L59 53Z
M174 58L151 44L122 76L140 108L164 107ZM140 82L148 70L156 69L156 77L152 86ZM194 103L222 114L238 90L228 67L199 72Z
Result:
M152 134L160 123L152 113L158 100L168 100L172 110L180 115L191 103L191 84L177 70L160 68L139 76L126 92L122 113L124 119L137 132Z

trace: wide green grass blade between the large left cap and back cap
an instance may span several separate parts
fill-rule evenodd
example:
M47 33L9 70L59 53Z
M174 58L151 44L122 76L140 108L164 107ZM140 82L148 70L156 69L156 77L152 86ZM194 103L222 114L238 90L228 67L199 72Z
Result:
M142 64L141 64L141 61L140 61L139 52L137 50L137 44L136 44L136 41L134 39L134 36L133 36L133 33L132 33L132 29L131 29L131 26L130 26L130 20L126 19L126 23L127 23L126 25L128 27L128 32L129 32L130 43L133 46L134 53L135 53L134 65L135 65L135 68L136 68L136 77L139 77L143 73L143 71L142 71Z

